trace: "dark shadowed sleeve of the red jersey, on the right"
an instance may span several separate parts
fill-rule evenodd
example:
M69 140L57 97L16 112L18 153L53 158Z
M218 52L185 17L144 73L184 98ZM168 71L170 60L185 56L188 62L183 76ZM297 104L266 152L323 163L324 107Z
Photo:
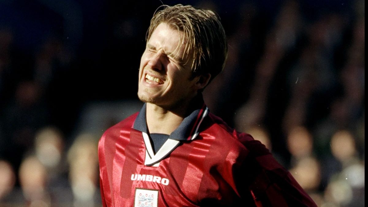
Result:
M289 207L308 206L316 204L293 178L291 173L283 168L269 150L258 140L242 141L248 153L242 159L240 169L234 171L242 194L251 193L258 207Z

